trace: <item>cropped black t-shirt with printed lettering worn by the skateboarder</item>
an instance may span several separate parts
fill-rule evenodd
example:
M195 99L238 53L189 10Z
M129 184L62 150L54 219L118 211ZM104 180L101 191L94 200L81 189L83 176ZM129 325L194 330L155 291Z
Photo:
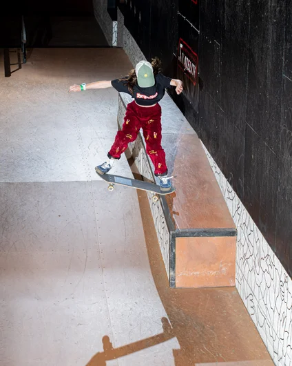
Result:
M123 79L115 79L112 80L112 86L118 90L118 92L127 93L135 99L137 104L140 106L152 106L152 104L156 104L163 99L163 95L165 95L165 88L170 86L170 77L166 77L163 74L157 74L155 77L155 85L150 86L149 88L140 88L138 84L136 84L133 88L133 94L129 91L127 85L125 84L125 80ZM125 77L127 79L127 77Z

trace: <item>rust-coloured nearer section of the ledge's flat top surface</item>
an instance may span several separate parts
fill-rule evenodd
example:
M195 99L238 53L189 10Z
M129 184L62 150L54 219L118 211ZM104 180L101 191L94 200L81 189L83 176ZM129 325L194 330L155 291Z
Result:
M176 194L167 200L177 229L235 227L196 134L180 135L174 175Z

